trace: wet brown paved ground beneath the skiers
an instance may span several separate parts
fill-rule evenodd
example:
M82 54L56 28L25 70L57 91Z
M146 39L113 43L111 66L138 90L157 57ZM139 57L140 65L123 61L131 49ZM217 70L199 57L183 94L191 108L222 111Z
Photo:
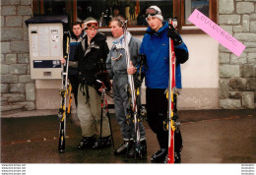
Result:
M159 149L145 121L148 153L142 160L114 156L112 147L77 148L81 129L67 120L66 152L58 153L57 111L29 111L1 117L1 163L150 163ZM46 114L46 116L44 115ZM44 115L44 116L42 116ZM256 110L179 111L183 137L182 163L256 163ZM111 114L114 146L122 143Z

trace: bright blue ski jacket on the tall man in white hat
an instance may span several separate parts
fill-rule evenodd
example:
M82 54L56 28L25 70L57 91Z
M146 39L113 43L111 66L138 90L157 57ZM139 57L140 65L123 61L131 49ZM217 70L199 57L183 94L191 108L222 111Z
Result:
M168 24L162 23L162 28L157 32L150 27L143 37L140 54L146 55L147 65L143 71L146 73L146 87L167 88L169 80L169 37L167 36ZM188 49L184 42L175 46L176 60L187 60ZM176 61L177 63L178 61ZM184 63L184 61L180 61ZM176 87L181 88L180 64L176 64Z

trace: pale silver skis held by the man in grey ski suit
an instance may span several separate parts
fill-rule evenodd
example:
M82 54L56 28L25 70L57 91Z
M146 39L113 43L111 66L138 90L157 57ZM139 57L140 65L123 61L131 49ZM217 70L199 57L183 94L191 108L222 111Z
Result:
M129 41L126 38L127 36L127 21L123 24L123 37L124 37L124 45L125 45L125 58L126 58L126 65L127 67L131 67L130 63L130 51L129 51ZM139 117L139 112L138 112L138 105L137 105L137 97L140 95L140 90L136 90L134 86L134 79L133 75L128 74L128 87L127 87L127 93L128 97L130 99L130 104L131 107L128 109L129 111L127 112L128 118L132 120L134 123L135 127L135 135L136 135L136 141L135 141L135 152L138 152L139 158L142 158L142 152L141 152L141 135L140 135L140 130L139 130L139 122L140 122L140 117ZM136 153L135 153L135 158L136 158Z

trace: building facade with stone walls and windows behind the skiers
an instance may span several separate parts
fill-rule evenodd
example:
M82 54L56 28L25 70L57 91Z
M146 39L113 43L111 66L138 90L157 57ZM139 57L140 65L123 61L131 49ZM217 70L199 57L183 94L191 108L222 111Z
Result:
M134 35L142 39L146 27L139 22L139 14L152 1L1 1L1 111L16 109L58 109L60 80L32 80L30 64L29 29L25 21L37 14L66 14L72 23L84 20L94 12L107 35L109 47L113 38L107 28L107 13L115 6L128 17ZM100 2L101 2L100 1ZM49 3L51 2L51 3ZM55 4L54 4L55 2ZM130 1L129 1L130 2ZM190 2L190 3L187 3ZM62 3L62 4L61 4ZM180 109L253 109L256 103L256 1L202 0L154 1L163 16L178 16L179 32L188 46L190 57L182 65L182 84L178 107ZM200 5L203 3L203 6ZM204 5L204 4L207 4ZM54 11L54 7L62 10ZM110 8L109 8L110 7ZM167 8L164 8L167 7ZM200 9L246 48L240 57L220 45L215 39L191 26L186 21L193 8ZM52 10L53 9L53 10ZM134 11L132 11L132 9ZM139 9L139 10L138 10ZM167 9L173 9L168 12ZM131 15L132 14L132 15ZM144 98L144 96L143 96Z

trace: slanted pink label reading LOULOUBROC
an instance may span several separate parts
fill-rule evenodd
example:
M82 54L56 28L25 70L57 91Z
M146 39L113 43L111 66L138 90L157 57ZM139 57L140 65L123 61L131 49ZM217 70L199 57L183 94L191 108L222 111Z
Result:
M194 10L194 12L188 18L188 21L214 37L218 42L220 42L225 48L230 50L236 56L240 56L245 49L245 45L232 37L230 34L228 34L228 32L219 27L197 9Z

